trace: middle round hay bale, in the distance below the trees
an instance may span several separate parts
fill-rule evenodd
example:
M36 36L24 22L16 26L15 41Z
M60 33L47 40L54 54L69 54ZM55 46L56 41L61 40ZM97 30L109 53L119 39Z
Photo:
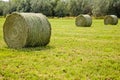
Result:
M76 26L90 27L92 25L92 18L89 15L79 15L75 20Z

